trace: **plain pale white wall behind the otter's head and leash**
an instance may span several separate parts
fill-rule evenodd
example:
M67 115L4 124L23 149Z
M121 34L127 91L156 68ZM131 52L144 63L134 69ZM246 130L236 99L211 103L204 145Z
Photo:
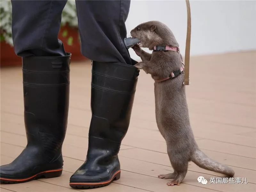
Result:
M256 50L256 1L190 1L191 55ZM184 55L187 10L182 1L131 1L127 36L142 22L159 20L174 33ZM132 49L134 59L139 59Z

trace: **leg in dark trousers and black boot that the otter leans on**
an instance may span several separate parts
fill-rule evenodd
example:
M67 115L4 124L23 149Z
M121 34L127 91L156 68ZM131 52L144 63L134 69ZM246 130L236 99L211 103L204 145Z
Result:
M84 56L92 59L92 119L85 163L73 188L103 187L120 178L118 152L130 123L139 70L125 48L129 1L76 1Z

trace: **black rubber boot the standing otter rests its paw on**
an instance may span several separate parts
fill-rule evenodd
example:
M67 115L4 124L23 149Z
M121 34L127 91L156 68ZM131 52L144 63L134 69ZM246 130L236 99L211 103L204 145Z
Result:
M118 152L127 132L139 70L122 63L92 63L92 120L85 163L73 188L103 187L120 178Z

